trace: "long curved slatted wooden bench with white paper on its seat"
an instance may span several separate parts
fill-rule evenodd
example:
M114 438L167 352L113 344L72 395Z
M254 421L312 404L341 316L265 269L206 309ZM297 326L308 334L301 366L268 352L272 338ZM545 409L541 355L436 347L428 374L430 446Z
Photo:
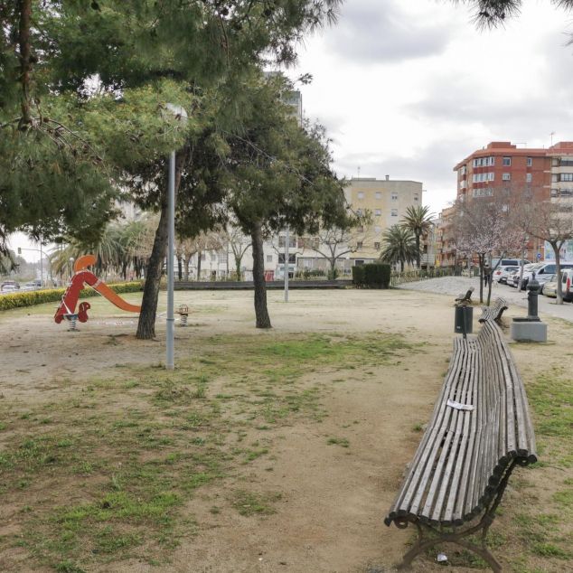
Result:
M525 390L500 327L486 320L477 337L455 339L434 414L384 520L418 528L401 567L448 541L501 571L485 536L515 465L536 461ZM481 546L467 540L477 531Z

